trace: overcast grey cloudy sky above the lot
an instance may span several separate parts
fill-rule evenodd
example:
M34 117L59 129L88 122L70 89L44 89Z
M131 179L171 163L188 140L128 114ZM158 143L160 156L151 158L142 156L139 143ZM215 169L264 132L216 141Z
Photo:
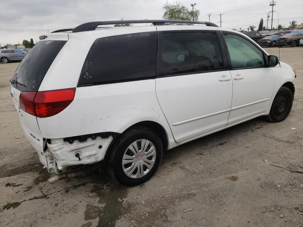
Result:
M258 27L260 19L264 19L266 26L267 12L271 11L270 0L180 0L180 3L191 7L197 3L200 10L200 21L210 21L220 26L222 15L223 28L245 28L249 25ZM23 39L34 42L38 36L60 28L73 28L88 21L108 20L138 20L161 19L163 5L166 0L130 0L130 1L104 1L104 0L0 0L0 44L22 43ZM172 2L172 0L169 0ZM290 4L291 2L291 4ZM281 1L276 0L274 6L273 27L280 24L288 27L288 21L296 20L303 23L302 0ZM271 22L268 21L268 27Z

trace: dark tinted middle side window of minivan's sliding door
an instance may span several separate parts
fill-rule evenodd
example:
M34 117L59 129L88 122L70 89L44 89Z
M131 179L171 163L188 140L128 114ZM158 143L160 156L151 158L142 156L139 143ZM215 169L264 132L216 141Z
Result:
M223 69L219 41L214 32L180 32L162 35L165 75Z

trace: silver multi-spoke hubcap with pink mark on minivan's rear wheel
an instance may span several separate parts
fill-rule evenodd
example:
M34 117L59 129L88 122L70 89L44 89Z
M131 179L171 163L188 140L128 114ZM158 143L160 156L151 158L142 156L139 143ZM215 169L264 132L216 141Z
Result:
M137 140L125 150L122 158L122 169L126 176L140 178L154 166L156 149L149 140Z

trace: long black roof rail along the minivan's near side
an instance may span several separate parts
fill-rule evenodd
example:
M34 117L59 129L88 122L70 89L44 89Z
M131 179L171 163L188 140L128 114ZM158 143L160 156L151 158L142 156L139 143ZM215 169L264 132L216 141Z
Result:
M139 23L152 23L153 25L164 25L165 23L202 24L202 25L206 25L206 26L219 27L218 25L211 23L211 22L207 22L207 21L181 21L181 20L93 21L93 22L84 23L82 25L75 27L74 29L72 29L72 32L93 31L99 25L139 24Z

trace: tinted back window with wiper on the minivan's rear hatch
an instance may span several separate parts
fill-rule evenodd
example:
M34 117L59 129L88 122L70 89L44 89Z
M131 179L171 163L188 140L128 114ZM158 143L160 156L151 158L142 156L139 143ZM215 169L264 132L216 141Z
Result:
M13 80L26 87L12 83L12 86L22 91L38 91L40 84L62 49L66 41L51 40L38 42L16 69Z

